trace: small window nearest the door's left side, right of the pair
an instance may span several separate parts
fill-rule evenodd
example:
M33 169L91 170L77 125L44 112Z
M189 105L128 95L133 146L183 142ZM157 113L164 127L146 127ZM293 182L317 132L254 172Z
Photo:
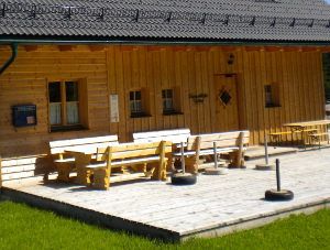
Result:
M179 87L162 89L163 115L183 115L179 104Z

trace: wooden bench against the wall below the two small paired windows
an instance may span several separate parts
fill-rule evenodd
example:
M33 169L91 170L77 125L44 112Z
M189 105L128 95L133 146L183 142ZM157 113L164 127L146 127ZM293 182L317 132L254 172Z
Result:
M172 153L176 151L176 144L180 142L187 143L188 137L190 137L190 129L188 128L179 128L179 129L168 129L168 130L157 130L157 131L144 131L144 132L134 132L133 140L135 143L143 142L154 142L154 141L172 141L173 151L166 153L166 157L168 157L166 170L169 172L175 171L173 169L173 156Z

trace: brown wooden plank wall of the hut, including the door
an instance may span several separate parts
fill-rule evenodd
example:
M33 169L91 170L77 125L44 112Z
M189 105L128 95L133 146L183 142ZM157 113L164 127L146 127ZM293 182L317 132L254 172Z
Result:
M11 56L9 47L0 55L3 65ZM47 80L58 77L87 80L89 130L50 133ZM280 107L265 107L265 85L272 85ZM183 115L163 115L166 87L175 89ZM147 89L144 105L151 117L130 118L129 93L140 88ZM227 105L219 98L223 89L231 97ZM119 122L110 122L109 95L118 95ZM199 98L201 102L190 98L200 95L207 96ZM118 134L120 142L128 142L136 131L190 128L196 134L248 129L250 145L260 144L285 122L323 119L323 96L317 48L20 46L15 62L0 76L3 181L45 172L52 140ZM36 105L37 126L14 128L16 105Z

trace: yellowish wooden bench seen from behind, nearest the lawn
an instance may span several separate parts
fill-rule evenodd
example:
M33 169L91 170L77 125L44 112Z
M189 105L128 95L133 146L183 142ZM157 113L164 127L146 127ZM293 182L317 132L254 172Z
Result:
M94 172L92 186L98 189L110 188L111 169L118 166L143 166L146 169L147 164L156 163L152 167L153 180L166 180L166 162L165 153L172 151L170 141L146 142L146 143L122 143L118 145L110 145L107 148L98 148L97 161L102 163L95 163L86 165ZM154 171L156 170L156 171ZM146 170L143 170L144 172Z

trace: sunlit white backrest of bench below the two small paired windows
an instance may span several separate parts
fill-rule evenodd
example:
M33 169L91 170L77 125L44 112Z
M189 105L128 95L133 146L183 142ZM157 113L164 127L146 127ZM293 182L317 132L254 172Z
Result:
M187 138L190 137L190 129L168 129L158 131L145 131L133 133L134 142L154 142L154 141L172 141L173 143L186 142Z

